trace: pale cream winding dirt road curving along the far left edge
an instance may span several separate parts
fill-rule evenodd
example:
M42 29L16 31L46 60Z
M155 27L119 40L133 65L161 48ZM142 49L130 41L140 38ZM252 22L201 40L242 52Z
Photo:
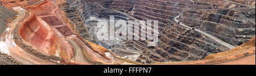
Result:
M7 53L14 59L22 62L22 64L28 65L52 65L52 62L47 62L46 60L40 59L39 57L35 57L30 53L27 53L22 50L17 44L14 42L13 30L15 29L16 25L26 15L26 10L21 7L13 7L14 11L18 12L16 19L11 21L9 27L6 29L5 33L0 38L0 48L5 48L2 50L3 53Z

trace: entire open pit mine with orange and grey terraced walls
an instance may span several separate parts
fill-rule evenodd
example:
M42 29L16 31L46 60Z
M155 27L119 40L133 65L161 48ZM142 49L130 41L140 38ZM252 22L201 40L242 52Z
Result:
M0 65L255 65L255 0L0 3ZM139 39L101 40L100 20L115 31L132 28L131 37ZM142 38L151 33L142 23L111 25L118 20L158 21L151 31L158 34L156 46Z

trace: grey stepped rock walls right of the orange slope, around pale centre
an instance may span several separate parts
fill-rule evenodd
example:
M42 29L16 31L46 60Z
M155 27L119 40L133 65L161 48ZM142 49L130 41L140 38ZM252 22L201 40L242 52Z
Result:
M137 61L142 63L200 60L210 53L229 50L203 34L175 23L174 17L177 15L183 15L180 17L182 23L198 27L234 46L239 46L255 36L255 29L253 29L255 28L255 18L253 18L255 8L247 8L233 2L222 0L66 1L69 6L76 8L94 37L98 30L97 20L109 20L110 15L114 15L117 20L158 20L160 41L154 48L146 47L148 41L113 42L98 41L96 38L96 43L120 56L141 53Z

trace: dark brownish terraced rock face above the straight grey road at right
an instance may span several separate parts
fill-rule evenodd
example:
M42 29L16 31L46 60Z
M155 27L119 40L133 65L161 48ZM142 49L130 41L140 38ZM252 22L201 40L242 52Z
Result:
M180 21L235 46L255 36L255 8L185 10Z

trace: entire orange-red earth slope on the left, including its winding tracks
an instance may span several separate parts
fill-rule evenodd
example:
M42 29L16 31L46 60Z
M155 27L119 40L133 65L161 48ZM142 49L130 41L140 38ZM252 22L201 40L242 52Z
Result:
M17 2L5 2L5 5L9 3ZM64 2L39 1L32 5L27 3L24 2L24 5L20 5L22 8L7 6L14 7L16 11L19 11L19 15L22 15L19 16L19 20L13 21L15 24L12 24L12 30L8 32L11 35L7 36L12 37L10 41L13 41L15 47L19 48L19 52L28 54L22 55L22 57L28 57L28 61L32 60L31 63L26 62L27 60L23 62L28 64L41 64L48 61L48 64L119 64L121 62L120 58L112 51L85 40L86 37L90 39L88 32L81 32L76 27L86 31L86 26L81 24L80 17L75 16L76 19L69 20L65 14L68 10L64 12L64 8L60 10L57 7ZM71 18L71 16L69 17ZM79 22L80 24L74 24ZM84 35L85 39L77 33ZM9 47L6 48L9 49ZM34 59L34 56L30 54L36 58ZM44 62L41 59L47 61ZM39 61L39 63L33 60Z

